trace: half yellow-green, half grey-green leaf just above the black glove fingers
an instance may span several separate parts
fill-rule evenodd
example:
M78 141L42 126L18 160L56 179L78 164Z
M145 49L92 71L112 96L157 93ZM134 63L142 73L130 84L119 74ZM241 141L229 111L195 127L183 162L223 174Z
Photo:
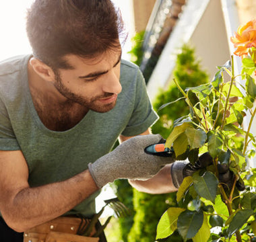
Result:
M204 145L207 135L201 128L187 128L185 130L191 149L200 148Z

